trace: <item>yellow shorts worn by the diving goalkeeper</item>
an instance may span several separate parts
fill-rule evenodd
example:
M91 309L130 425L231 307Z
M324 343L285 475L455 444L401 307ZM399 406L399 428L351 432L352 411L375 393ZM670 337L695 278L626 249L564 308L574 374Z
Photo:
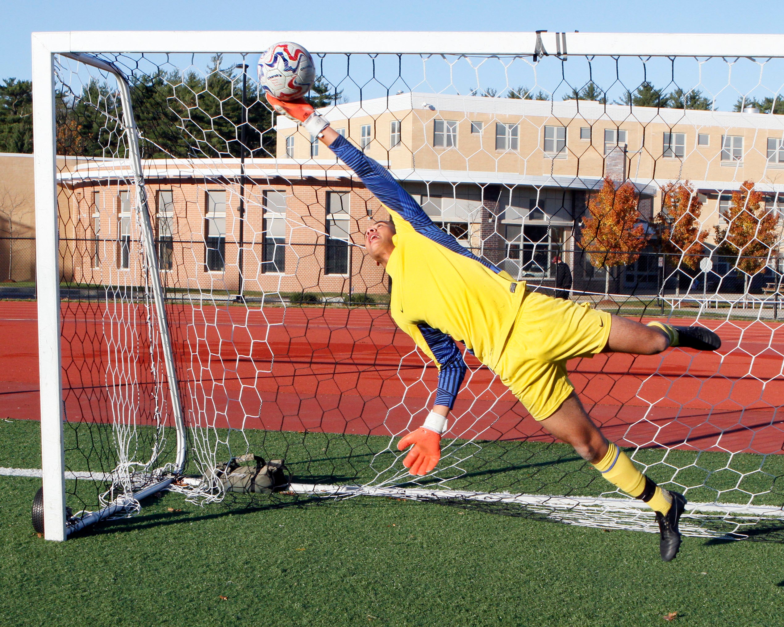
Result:
M589 303L527 292L495 373L536 420L544 420L575 389L566 361L601 352L611 321Z

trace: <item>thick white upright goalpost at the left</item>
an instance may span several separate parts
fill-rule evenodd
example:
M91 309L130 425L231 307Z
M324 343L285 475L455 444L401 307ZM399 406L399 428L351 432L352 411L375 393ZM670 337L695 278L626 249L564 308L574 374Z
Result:
M60 243L57 223L53 55L33 34L35 282L38 294L38 377L44 535L66 538L63 386L60 366Z

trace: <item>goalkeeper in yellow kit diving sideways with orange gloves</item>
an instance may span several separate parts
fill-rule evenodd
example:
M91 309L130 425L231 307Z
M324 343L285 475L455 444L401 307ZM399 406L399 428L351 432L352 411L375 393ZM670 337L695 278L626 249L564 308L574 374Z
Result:
M386 169L329 128L304 100L267 99L331 148L392 218L368 228L365 248L392 278L390 315L439 370L433 410L423 426L397 444L401 451L411 447L403 462L409 473L430 473L441 457L441 435L466 372L458 340L499 375L548 432L655 511L662 560L672 560L681 545L678 521L686 499L645 477L604 438L580 403L566 362L597 353L655 355L670 346L717 350L719 337L702 327L646 326L586 304L528 292L524 282L445 234Z

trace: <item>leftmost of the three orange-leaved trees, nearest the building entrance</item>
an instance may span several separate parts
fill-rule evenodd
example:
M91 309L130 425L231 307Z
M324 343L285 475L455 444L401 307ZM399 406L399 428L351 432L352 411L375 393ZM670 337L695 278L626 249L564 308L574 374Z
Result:
M580 246L594 267L606 271L604 298L609 297L610 268L636 262L648 243L637 200L632 183L627 181L615 189L615 183L607 176L601 190L588 201Z

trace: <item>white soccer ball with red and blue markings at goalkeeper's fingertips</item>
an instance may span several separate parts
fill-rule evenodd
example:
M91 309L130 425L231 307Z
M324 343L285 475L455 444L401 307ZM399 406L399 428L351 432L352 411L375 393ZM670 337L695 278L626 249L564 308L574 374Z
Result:
M295 100L310 91L316 78L313 57L301 45L280 42L259 57L261 89L279 100Z

